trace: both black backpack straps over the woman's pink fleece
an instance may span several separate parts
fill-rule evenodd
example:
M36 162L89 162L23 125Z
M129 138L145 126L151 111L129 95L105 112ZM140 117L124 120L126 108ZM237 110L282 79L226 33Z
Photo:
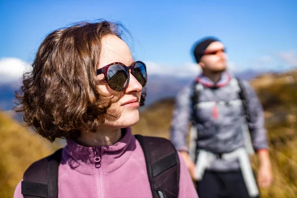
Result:
M176 149L164 138L142 135L135 137L145 154L153 198L177 198L180 162ZM24 198L58 197L58 166L61 155L62 148L29 166L22 181Z

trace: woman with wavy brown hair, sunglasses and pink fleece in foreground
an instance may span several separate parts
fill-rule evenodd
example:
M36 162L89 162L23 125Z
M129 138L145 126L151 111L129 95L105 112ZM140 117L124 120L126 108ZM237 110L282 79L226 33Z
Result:
M32 66L24 75L17 111L50 142L67 139L58 163L58 197L151 198L144 150L130 128L144 104L147 70L134 61L119 26L103 21L53 31ZM178 158L178 197L198 197ZM28 188L20 182L14 198Z

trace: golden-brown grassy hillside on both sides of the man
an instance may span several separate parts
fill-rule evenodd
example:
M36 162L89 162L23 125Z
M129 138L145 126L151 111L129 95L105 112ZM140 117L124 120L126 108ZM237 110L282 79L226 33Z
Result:
M265 74L253 79L264 110L274 182L263 198L297 197L297 71ZM174 99L163 99L141 112L134 133L169 138ZM257 158L252 156L257 172Z

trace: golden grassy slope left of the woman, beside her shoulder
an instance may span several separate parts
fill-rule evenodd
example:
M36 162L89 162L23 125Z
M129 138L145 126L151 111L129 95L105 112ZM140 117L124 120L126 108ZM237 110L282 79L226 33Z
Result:
M0 198L12 198L26 168L58 146L30 135L16 121L0 112Z

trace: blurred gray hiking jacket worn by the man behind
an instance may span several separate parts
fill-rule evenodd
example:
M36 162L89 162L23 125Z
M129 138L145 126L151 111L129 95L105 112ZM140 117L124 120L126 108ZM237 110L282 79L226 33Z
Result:
M212 88L213 83L205 76L198 77L198 81L202 89L199 91L199 102L195 109L192 101L194 82L176 97L171 122L171 141L177 150L189 151L187 137L194 111L197 115L194 120L197 131L196 157L199 149L221 154L245 147L244 134L247 134L248 128L254 150L268 148L262 105L246 81L243 81L243 85L250 114L248 123L243 102L239 97L240 87L235 78L231 78L227 72L224 73L216 85L217 89ZM207 169L236 170L239 169L239 162L237 159L226 161L218 158Z

